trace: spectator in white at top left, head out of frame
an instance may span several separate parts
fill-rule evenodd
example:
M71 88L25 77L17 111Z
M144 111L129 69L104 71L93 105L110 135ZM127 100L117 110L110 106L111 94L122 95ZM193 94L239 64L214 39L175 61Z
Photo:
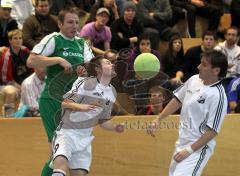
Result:
M18 23L18 28L22 29L24 21L34 14L32 0L13 0L11 17Z

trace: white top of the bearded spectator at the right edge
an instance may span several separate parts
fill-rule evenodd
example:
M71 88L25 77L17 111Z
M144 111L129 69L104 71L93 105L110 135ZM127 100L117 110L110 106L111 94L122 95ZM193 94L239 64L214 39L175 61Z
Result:
M226 41L219 43L215 50L222 52L227 56L228 64L233 64L231 68L228 69L227 77L240 74L240 47L235 44L231 49L226 47Z

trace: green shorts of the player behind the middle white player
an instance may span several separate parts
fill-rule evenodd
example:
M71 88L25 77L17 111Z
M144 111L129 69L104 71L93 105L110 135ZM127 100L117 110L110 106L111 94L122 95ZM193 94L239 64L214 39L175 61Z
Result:
M61 102L51 98L40 98L39 110L48 141L51 142L61 120Z

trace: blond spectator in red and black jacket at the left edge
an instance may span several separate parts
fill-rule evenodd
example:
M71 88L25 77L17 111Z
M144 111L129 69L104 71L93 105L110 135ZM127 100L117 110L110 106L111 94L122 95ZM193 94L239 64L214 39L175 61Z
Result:
M10 47L6 48L0 59L0 84L4 95L5 116L12 116L15 102L21 90L22 81L32 73L27 68L29 50L22 46L22 32L18 29L8 33Z

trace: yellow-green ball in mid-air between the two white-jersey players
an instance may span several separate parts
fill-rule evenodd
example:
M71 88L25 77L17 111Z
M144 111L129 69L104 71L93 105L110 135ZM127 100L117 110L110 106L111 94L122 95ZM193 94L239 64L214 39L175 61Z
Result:
M160 70L160 62L152 53L142 53L134 61L134 71L141 79L150 79Z

